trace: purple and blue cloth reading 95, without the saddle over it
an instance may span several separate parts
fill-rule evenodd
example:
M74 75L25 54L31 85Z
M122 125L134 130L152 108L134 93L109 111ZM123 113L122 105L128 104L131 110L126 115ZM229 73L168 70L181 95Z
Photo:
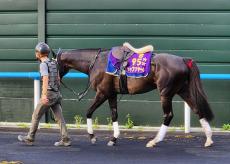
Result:
M145 54L133 53L127 60L127 66L125 67L125 73L128 77L146 77L150 72L152 52ZM114 76L121 74L121 60L114 57L112 51L108 55L108 62L106 67L106 73Z

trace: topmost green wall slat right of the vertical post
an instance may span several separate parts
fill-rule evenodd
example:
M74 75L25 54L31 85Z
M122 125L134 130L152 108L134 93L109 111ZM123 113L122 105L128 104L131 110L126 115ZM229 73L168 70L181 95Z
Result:
M229 10L228 0L48 0L48 10Z

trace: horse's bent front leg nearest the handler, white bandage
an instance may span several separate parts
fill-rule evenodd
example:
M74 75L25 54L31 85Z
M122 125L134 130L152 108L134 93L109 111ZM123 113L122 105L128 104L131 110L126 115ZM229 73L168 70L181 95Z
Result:
M92 121L92 115L94 113L94 111L105 102L106 100L106 96L104 94L102 94L101 92L97 92L95 99L93 101L93 104L91 105L91 107L88 109L86 117L87 117L87 131L89 134L89 138L92 144L95 144L96 142L96 137L93 134L93 121Z

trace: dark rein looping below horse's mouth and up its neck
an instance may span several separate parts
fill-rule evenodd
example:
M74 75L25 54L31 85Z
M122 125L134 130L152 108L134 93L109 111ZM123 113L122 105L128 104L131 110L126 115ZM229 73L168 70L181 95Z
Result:
M81 101L81 99L88 93L90 87L91 87L91 83L90 83L90 73L91 73L91 70L93 69L95 63L96 63L96 60L99 56L101 52L101 48L98 50L97 54L95 55L94 57L94 60L93 62L91 62L90 66L89 66L89 77L88 77L88 82L87 82L87 87L84 91L80 92L80 93L76 93L72 88L68 87L62 80L60 80L61 84L66 88L68 89L69 91L71 91L75 96L78 97L78 101ZM52 51L52 53L54 53Z

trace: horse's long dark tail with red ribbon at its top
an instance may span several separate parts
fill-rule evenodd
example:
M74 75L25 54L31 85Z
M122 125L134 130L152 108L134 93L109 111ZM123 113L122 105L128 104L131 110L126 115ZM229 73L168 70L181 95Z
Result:
M194 108L206 118L207 121L211 121L214 118L213 112L208 104L207 96L203 90L200 71L196 65L196 62L192 59L185 58L185 63L188 66L189 73L189 93L190 98L194 103Z

